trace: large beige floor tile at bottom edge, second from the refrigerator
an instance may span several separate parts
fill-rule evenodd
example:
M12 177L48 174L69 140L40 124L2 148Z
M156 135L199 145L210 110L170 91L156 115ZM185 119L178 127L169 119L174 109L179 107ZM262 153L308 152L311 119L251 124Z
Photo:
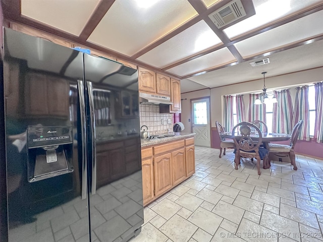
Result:
M186 242L197 230L197 226L175 214L159 228L170 239L176 242Z

